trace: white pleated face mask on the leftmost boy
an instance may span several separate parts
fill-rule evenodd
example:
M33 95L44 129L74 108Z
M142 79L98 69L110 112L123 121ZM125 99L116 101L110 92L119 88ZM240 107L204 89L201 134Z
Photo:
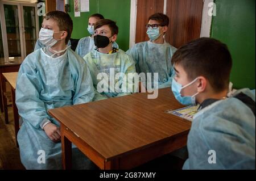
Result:
M63 32L63 31L59 31L59 32ZM55 40L53 38L53 34L54 33L59 33L59 32L54 32L53 30L48 30L46 28L41 28L41 30L39 32L39 40L46 47L52 47L53 45L55 45L60 40L60 39Z

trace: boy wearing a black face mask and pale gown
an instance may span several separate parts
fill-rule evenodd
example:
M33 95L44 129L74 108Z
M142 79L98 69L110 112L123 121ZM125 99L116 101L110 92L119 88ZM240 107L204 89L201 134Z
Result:
M84 56L96 89L93 100L131 94L133 90L129 90L129 87L133 89L134 83L129 81L128 74L135 73L135 64L123 50L113 45L117 40L117 25L112 20L101 19L94 24L94 28L94 43L97 48Z

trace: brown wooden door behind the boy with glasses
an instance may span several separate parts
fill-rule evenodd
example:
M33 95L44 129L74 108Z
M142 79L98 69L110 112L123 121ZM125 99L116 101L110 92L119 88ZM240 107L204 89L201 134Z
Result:
M176 48L200 37L203 0L167 0L170 24L166 41ZM164 11L164 0L138 0L135 43L147 41L145 25L150 15Z

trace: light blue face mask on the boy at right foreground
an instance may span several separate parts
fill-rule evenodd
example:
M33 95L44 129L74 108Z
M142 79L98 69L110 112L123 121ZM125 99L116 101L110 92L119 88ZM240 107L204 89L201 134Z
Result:
M174 92L174 96L177 99L177 101L179 101L181 104L186 106L196 106L196 95L199 94L199 92L197 92L192 96L181 96L180 92L185 87L188 87L193 83L195 83L197 79L198 77L195 80L193 80L191 83L188 83L185 86L182 86L180 83L177 83L177 81L175 81L174 78L172 79L172 92Z

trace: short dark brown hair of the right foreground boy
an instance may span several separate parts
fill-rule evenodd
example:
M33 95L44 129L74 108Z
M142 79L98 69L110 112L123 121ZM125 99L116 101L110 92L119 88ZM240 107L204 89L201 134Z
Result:
M190 81L204 76L215 92L228 88L232 57L228 47L216 39L203 37L181 46L172 64L181 65Z

